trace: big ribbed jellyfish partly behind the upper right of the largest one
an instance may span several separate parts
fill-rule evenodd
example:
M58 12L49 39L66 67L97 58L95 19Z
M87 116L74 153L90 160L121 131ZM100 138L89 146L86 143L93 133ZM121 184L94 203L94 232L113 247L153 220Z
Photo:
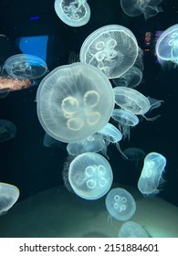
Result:
M138 56L136 37L127 27L100 27L83 42L79 59L100 69L109 79L130 69Z

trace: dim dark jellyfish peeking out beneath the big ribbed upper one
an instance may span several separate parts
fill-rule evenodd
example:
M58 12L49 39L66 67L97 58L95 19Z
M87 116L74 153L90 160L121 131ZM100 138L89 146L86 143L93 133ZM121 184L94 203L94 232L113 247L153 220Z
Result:
M142 71L137 67L131 67L127 72L121 75L120 78L113 79L113 83L116 86L127 86L130 88L137 87L142 80Z

